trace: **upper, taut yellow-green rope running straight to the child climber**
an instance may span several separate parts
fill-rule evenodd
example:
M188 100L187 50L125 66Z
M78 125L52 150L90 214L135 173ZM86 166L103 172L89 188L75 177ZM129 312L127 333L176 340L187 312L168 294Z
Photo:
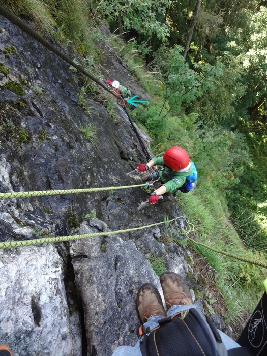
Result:
M143 186L145 186L145 184L136 184L133 186L103 187L103 188L42 190L42 191L33 191L33 192L0 193L0 199L26 198L26 197L31 197L31 196L60 195L60 194L86 193L86 192L99 192L99 191L103 191L103 190L126 189L126 188L143 187Z

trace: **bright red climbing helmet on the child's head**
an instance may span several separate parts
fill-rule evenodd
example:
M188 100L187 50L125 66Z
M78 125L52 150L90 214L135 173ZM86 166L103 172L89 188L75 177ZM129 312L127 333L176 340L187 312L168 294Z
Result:
M182 147L170 147L163 155L163 163L173 170L182 170L189 166L188 153Z

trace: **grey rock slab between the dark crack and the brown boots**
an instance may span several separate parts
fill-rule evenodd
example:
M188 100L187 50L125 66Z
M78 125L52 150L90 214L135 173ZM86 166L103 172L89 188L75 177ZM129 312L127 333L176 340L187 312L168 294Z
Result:
M105 224L95 219L84 221L79 233L107 231ZM151 233L142 240L152 251L166 253ZM138 315L136 294L142 284L151 282L161 291L159 278L150 263L140 254L133 240L123 241L116 235L95 237L70 244L70 256L75 272L75 284L81 295L87 340L96 345L100 354L111 354L121 344L137 341ZM172 271L185 272L187 263L176 255ZM183 264L185 262L185 265ZM161 291L162 292L162 291ZM163 294L162 294L163 297ZM100 342L105 340L105 342Z

